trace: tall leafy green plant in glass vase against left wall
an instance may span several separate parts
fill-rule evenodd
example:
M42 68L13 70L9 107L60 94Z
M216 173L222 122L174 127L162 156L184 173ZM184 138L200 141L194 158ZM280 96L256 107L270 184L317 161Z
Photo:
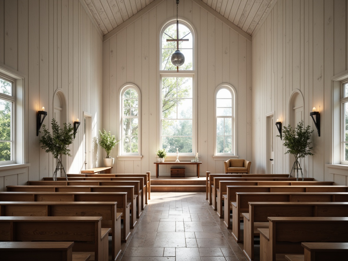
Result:
M52 153L53 157L56 159L56 169L53 173L53 180L57 180L58 170L61 171L61 176L63 170L66 177L66 172L62 164L62 155L71 156L69 146L74 140L74 127L71 123L66 124L64 122L63 125L63 128L61 128L53 118L51 121L52 134L46 129L46 125L42 125L44 135L42 135L40 139L42 144L41 148L47 153ZM68 180L67 177L66 180Z

